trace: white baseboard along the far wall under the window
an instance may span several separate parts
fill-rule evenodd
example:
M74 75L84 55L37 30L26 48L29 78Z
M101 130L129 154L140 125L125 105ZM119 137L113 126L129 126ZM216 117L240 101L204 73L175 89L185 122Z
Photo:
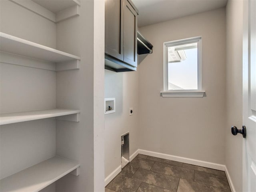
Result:
M225 171L225 165L139 149L139 154Z

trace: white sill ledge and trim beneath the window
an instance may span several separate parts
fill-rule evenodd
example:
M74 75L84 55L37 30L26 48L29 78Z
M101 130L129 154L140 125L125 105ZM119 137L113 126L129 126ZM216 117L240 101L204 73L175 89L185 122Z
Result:
M200 90L173 90L161 91L162 97L193 97L202 98L205 96L205 91Z

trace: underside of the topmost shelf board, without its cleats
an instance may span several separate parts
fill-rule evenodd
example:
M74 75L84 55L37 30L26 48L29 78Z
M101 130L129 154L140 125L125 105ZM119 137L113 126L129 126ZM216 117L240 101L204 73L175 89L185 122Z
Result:
M80 6L80 2L78 0L32 0L40 6L48 9L53 13L60 12L64 9L70 8L72 6Z

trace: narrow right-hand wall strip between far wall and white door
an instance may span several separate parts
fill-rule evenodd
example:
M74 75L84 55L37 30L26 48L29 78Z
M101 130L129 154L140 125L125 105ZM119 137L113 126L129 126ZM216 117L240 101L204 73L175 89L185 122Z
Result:
M242 136L230 127L242 127L242 38L243 1L229 0L226 6L226 167L236 192L242 192ZM235 148L235 150L234 150Z

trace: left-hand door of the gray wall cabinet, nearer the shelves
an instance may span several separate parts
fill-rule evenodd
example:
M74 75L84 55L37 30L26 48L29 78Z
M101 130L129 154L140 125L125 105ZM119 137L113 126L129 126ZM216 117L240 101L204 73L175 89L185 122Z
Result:
M105 0L105 53L124 59L123 42L124 0Z

